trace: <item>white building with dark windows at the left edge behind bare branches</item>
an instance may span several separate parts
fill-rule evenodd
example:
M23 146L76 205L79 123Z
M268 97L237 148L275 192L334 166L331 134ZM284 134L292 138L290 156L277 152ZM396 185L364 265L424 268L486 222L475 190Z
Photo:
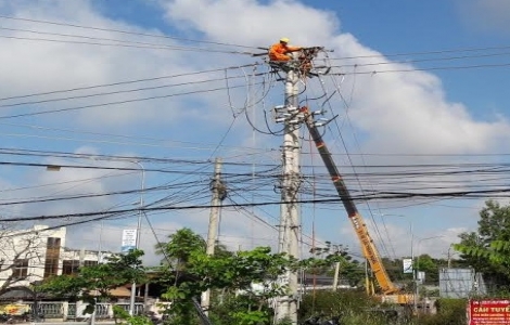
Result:
M72 274L80 265L97 264L98 251L65 247L66 229L35 225L30 230L0 231L0 292L10 287Z

